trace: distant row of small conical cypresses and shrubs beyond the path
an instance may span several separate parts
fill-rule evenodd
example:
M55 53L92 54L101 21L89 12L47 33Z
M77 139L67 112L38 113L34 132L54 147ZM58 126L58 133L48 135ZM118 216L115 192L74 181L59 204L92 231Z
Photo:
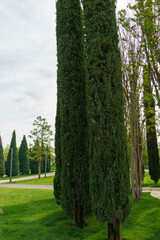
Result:
M13 149L13 158L12 158L12 176L17 176L18 174L29 174L38 173L38 162L36 161L36 156L32 153L32 150L29 149L25 135L23 136L19 151L17 151L16 145L16 132L12 134L12 139L10 143L10 148L7 156L7 161L5 162L3 154L2 139L0 137L0 176L10 175L10 162L11 162L11 149ZM49 149L47 148L49 152ZM43 161L41 162L41 172L45 172L45 156L42 157ZM47 157L47 172L51 170L51 157L48 154Z

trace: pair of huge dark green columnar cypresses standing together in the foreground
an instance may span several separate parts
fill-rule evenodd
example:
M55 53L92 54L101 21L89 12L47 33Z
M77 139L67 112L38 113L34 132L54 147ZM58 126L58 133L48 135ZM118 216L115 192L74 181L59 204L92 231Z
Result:
M76 226L94 214L118 240L130 203L115 0L84 0L83 12L58 0L56 31L55 198Z

